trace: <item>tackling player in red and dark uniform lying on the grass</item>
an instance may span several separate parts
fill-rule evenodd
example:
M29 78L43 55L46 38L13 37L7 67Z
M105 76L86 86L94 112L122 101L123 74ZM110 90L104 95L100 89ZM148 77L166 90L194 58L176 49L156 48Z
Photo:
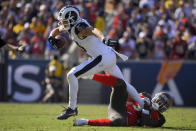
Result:
M147 105L139 110L138 104L127 95L126 84L123 80L109 74L95 74L93 80L107 86L113 86L108 118L102 119L76 119L74 126L150 126L161 127L165 123L165 117L161 114L172 104L171 97L165 93L157 93L151 99L148 93L141 93L141 98Z

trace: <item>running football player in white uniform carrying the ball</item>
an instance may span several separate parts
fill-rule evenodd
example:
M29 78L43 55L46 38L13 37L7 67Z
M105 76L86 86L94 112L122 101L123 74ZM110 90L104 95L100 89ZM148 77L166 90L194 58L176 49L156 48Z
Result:
M105 39L102 32L93 28L86 20L80 18L80 11L78 8L71 5L63 7L58 14L58 20L59 26L53 29L49 35L48 40L50 44L54 48L60 48L55 36L69 32L75 43L92 57L90 60L84 61L80 65L73 67L67 74L69 82L69 105L68 108L57 117L57 119L62 120L78 114L78 78L106 71L125 81L122 72L116 65L116 57L118 55L123 60L127 59L127 57L119 54L110 47L110 45L116 43L115 41ZM128 94L142 109L144 101L132 85L126 81L125 83Z

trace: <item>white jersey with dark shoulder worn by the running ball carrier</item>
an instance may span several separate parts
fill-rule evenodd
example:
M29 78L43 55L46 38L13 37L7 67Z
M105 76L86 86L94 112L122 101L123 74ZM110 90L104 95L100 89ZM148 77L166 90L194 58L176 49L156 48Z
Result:
M71 29L71 37L80 48L82 48L87 52L88 55L92 57L96 57L111 51L111 47L105 45L94 35L79 38L79 32L86 27L91 27L91 25L86 20L80 19Z

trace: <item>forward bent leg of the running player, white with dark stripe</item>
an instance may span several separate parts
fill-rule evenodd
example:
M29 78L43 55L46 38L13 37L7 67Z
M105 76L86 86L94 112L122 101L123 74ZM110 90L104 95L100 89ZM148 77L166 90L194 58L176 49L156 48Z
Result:
M78 114L77 111L77 93L78 93L78 78L82 75L94 74L94 72L102 71L103 67L100 68L100 64L102 61L102 56L98 56L88 61L84 61L80 65L71 69L71 71L67 74L68 82L69 82L69 105L68 108L64 111L63 114L58 116L57 118L67 119L70 116L74 116Z

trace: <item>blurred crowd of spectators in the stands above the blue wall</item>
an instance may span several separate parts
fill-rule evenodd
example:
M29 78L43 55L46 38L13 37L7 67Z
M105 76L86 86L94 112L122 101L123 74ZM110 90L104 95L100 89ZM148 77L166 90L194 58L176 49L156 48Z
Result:
M47 38L67 4L78 7L107 38L118 40L118 50L129 59L196 59L195 0L1 0L0 36L13 45L25 43L24 58L62 56L72 45L69 35L60 51ZM18 56L10 50L9 57Z

